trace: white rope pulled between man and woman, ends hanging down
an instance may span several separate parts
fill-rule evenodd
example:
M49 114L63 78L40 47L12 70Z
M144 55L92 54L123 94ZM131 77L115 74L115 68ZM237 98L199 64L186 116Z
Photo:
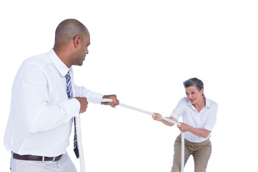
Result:
M113 102L112 99L93 99L93 98L87 98L88 102L91 103L100 103L100 102ZM135 110L144 114L148 114L148 115L153 115L154 113L148 112L148 111L144 111L142 109L139 108L135 108L129 105L125 105L122 103L119 103L119 106L131 109L131 110ZM171 122L173 124L176 125L181 125L179 122L173 121L167 117L163 117L162 119L168 122ZM83 143L82 143L82 136L81 136L81 122L80 122L80 115L78 117L75 117L76 120L76 132L77 132L77 142L78 142L78 149L79 149L79 155L80 155L80 164L81 164L81 172L85 172L85 162L84 162L84 152L83 152ZM79 124L79 125L78 125ZM181 132L181 172L184 172L184 147L185 147L185 143L184 143L184 133Z

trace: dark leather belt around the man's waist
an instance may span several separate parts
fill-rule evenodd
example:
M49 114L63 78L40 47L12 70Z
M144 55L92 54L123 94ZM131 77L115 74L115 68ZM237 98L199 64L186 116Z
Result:
M47 157L47 156L35 156L35 155L19 155L13 153L14 159L27 160L27 161L58 161L62 158L62 155L56 157Z

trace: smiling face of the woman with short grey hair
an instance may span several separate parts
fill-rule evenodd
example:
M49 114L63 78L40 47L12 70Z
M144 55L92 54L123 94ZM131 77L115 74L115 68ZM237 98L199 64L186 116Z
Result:
M192 104L200 103L203 98L203 88L199 91L196 86L189 86L185 88L185 93L188 98L192 102Z

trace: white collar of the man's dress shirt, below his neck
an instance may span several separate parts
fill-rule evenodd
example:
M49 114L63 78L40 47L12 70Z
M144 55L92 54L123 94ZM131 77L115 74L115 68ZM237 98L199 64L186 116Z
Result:
M60 75L64 77L67 72L69 71L69 68L62 62L62 60L57 56L53 48L49 51L49 57L51 61L56 66L57 70L59 71Z

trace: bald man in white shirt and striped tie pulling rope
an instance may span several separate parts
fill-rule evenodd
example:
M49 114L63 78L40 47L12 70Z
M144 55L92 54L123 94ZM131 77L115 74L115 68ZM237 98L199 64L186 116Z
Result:
M13 82L4 134L4 146L12 152L11 172L76 172L66 147L74 117L86 111L86 98L111 98L113 102L103 104L119 104L116 95L74 84L72 65L83 65L89 44L87 28L67 19L57 26L50 52L22 63ZM76 133L74 143L78 157Z

